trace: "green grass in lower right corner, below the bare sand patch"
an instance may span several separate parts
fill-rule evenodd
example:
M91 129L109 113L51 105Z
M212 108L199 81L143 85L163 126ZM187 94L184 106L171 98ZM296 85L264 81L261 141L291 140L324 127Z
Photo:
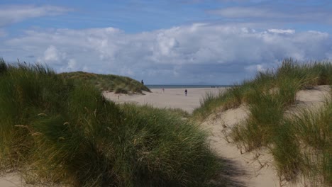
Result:
M332 186L332 101L323 108L302 109L281 125L270 148L280 176L290 181L304 176L311 186Z

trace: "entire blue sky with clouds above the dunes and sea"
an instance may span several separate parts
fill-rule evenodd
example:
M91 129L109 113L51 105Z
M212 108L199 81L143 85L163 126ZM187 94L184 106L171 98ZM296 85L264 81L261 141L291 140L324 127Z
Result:
M237 84L332 60L332 0L0 1L0 57L145 84Z

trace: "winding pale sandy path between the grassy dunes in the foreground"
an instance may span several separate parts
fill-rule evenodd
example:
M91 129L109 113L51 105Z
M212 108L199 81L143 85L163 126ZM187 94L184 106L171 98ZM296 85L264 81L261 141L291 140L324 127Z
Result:
M272 158L269 154L256 154L254 152L241 153L238 147L228 143L223 132L244 120L248 116L245 106L230 109L223 113L210 116L202 127L210 132L210 145L221 156L226 164L226 170L236 174L223 174L228 179L227 186L280 186L277 174L271 166ZM259 156L258 160L256 158Z

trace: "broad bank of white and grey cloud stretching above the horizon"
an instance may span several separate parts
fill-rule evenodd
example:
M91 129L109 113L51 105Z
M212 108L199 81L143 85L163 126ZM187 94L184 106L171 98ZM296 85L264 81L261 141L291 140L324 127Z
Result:
M11 60L33 55L58 72L121 74L147 84L232 84L287 57L331 58L331 39L318 31L256 31L207 23L136 34L116 28L28 30L4 42L15 51L0 48L0 53Z

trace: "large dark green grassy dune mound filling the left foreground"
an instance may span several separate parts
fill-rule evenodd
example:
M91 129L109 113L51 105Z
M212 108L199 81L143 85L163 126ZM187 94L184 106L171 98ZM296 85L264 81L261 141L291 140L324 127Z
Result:
M84 81L0 62L0 167L31 184L205 186L218 163L179 111L118 106Z

